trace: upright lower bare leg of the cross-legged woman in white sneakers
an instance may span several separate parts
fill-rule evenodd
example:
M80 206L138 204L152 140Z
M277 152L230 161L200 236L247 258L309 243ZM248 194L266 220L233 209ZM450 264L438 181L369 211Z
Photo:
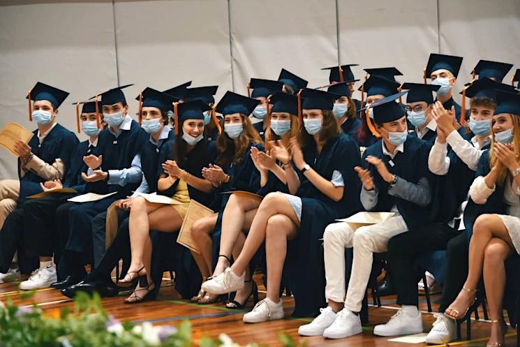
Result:
M272 302L280 300L280 284L283 263L287 254L287 241L297 234L297 226L284 214L275 214L267 221L265 232L265 256L267 259L267 297Z

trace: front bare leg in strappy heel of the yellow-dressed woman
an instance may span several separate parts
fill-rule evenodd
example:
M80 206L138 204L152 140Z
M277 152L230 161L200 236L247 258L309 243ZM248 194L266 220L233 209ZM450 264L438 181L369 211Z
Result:
M128 228L130 230L130 245L132 260L128 274L121 282L131 282L140 275L146 274L144 270L143 251L144 245L149 239L149 214L160 208L161 204L151 204L144 198L135 198L130 209Z

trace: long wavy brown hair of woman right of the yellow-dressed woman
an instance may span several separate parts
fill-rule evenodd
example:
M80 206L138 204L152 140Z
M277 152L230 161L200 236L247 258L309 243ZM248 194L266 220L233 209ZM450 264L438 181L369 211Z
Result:
M216 139L216 150L218 152L218 157L216 158L216 163L220 166L227 167L231 163L238 164L242 161L242 156L246 153L248 148L251 146L251 143L257 143L263 145L262 139L260 135L258 135L255 128L251 124L251 121L245 115L240 113L240 117L242 117L242 133L240 136L235 139L238 142L238 146L235 148L235 140L230 138L225 131L222 131L218 138ZM224 120L225 116L221 121L221 127L224 129Z

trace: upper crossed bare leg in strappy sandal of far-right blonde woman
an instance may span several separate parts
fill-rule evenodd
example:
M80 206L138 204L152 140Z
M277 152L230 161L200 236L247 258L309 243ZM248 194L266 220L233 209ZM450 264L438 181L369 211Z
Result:
M512 247L512 241L502 219L495 214L482 214L475 221L470 241L468 278L463 286L469 290L461 290L455 301L446 309L445 313L449 316L462 318L468 307L473 304L475 289L482 276L484 249L493 237L503 239Z

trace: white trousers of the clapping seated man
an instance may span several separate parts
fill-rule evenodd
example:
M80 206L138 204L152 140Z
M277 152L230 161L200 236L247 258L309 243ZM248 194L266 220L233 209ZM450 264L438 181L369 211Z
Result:
M389 239L407 230L401 216L394 216L382 223L364 226L355 231L344 222L327 226L323 234L327 300L345 300L347 309L352 312L361 311L372 270L372 253L386 252ZM354 248L354 260L345 295L345 248L350 247Z

